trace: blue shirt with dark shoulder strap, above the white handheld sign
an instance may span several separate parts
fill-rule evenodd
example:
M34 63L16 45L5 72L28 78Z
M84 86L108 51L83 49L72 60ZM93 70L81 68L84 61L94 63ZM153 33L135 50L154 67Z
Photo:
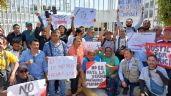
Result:
M51 49L50 49L50 46ZM59 41L57 44L54 44L52 40L49 42L46 42L43 51L45 52L46 56L64 56L67 53L67 47L66 44L63 41ZM52 54L51 54L52 51Z

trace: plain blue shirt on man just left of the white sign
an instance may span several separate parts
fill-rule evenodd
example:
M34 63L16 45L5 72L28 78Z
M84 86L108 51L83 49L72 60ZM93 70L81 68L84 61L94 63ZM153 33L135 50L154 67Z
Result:
M19 63L24 64L28 60L33 60L33 63L28 65L30 75L35 79L43 79L48 70L44 52L39 50L34 56L30 49L23 51Z

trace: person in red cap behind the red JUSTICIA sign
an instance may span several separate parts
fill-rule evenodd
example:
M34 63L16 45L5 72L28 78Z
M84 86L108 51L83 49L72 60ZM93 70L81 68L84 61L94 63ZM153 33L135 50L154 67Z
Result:
M157 43L171 44L171 27L165 27L164 28L163 39L158 40ZM168 90L171 90L171 70L166 68L166 71L167 71L168 76L170 78ZM171 91L168 92L167 96L171 96Z

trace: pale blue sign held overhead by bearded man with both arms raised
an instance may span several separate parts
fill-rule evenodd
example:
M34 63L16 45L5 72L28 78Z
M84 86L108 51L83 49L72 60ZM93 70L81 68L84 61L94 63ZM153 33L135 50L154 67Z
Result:
M120 17L139 16L143 0L118 0Z

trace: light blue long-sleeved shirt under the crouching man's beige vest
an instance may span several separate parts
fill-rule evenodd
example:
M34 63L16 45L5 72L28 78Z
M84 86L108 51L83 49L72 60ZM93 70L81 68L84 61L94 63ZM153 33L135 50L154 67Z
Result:
M131 69L132 64L135 62L135 58L137 58L137 57L132 57L130 61L126 60L129 70ZM123 66L122 64L123 63L121 61L120 65L119 65L119 78L120 78L121 81L124 80L124 76L123 76L123 72L122 72L122 66ZM138 70L139 70L139 72L141 72L142 68L143 68L143 64L142 64L142 62L140 60L138 60Z

